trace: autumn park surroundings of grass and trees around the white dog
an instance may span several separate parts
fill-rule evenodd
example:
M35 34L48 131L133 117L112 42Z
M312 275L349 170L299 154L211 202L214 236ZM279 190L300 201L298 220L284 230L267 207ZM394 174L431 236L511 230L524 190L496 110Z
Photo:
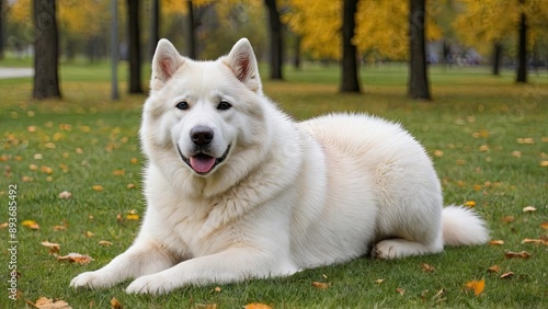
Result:
M32 308L46 297L73 308L104 308L113 299L126 308L541 308L548 5L427 0L412 13L412 2L424 1L0 0L0 70L35 72L0 79L0 196L7 209L9 185L18 186L20 241L18 300L3 289L0 307ZM493 241L159 297L126 295L127 283L68 288L77 274L123 252L145 213L137 131L158 38L184 56L214 59L242 36L258 54L265 93L296 119L350 111L400 122L433 158L446 203L475 207ZM411 46L423 50L413 56ZM419 69L410 70L413 64ZM11 258L8 216L0 214L2 261ZM93 261L59 260L70 252Z

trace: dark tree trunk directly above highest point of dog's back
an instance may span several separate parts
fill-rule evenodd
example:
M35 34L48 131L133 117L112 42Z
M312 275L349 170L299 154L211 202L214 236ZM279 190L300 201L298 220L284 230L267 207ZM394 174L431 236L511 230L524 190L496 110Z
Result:
M341 88L340 92L362 92L359 87L357 48L352 43L356 27L355 15L358 0L344 0L343 2L343 57L341 62Z

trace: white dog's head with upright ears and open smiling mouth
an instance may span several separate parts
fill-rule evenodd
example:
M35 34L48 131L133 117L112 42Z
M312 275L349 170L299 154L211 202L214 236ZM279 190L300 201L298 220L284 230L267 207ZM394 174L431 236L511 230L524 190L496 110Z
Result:
M161 39L152 59L150 89L140 135L152 161L168 164L172 172L184 167L185 178L205 179L203 183L219 173L247 170L246 159L235 156L265 138L264 129L259 129L265 125L261 104L265 99L248 39L240 39L216 61L182 57Z

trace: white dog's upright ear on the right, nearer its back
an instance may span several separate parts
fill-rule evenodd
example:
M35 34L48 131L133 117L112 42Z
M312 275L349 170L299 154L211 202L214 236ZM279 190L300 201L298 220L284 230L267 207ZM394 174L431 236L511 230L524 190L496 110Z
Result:
M251 91L262 93L255 54L247 38L240 38L232 47L232 50L230 50L230 54L225 57L224 61L232 70L236 78Z

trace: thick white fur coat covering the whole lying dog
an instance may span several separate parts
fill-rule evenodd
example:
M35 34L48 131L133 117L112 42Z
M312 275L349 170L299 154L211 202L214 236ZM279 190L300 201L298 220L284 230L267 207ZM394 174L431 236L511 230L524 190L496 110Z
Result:
M178 110L178 102L187 110ZM220 101L231 108L220 111ZM225 161L195 173L195 126ZM216 61L181 57L165 39L152 62L140 129L147 213L135 243L73 287L128 278L128 293L290 275L370 253L380 259L488 240L469 209L442 207L421 145L398 124L336 114L295 123L262 93L247 39ZM230 146L230 148L229 148Z

